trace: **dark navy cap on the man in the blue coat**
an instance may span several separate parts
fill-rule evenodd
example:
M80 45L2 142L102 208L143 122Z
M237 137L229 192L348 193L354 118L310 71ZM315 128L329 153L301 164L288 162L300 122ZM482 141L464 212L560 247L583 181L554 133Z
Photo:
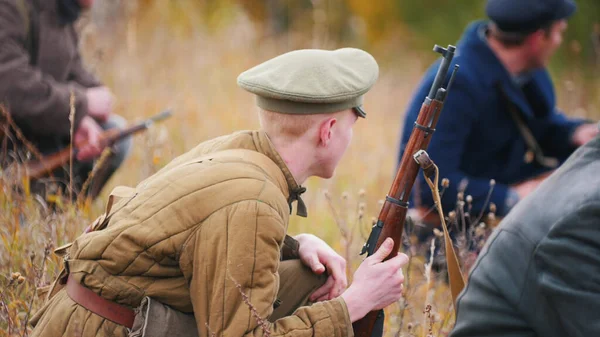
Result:
M573 0L488 0L487 16L504 32L530 33L571 16Z

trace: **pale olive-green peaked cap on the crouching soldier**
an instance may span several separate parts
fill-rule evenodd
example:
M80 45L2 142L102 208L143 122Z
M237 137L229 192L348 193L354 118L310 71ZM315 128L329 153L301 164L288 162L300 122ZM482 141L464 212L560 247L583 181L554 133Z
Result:
M355 48L304 49L277 56L238 76L238 85L256 94L256 104L285 114L322 114L354 109L361 117L363 95L379 67Z

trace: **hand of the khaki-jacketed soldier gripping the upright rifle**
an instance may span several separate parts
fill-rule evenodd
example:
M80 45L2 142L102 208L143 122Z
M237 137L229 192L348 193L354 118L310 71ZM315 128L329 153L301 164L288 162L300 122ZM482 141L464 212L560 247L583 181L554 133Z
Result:
M373 310L383 309L402 296L402 267L408 256L398 254L382 262L392 251L394 240L387 238L379 250L367 257L354 273L354 280L342 294L350 319L355 322Z

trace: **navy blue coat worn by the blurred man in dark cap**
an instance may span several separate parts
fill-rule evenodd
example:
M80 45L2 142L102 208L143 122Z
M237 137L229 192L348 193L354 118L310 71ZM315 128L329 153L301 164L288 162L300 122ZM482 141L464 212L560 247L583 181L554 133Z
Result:
M442 199L446 212L456 207L457 189L463 180L468 181L465 195L473 197L473 211L479 211L490 189L490 179L495 179L491 202L497 205L498 214L504 215L509 210L509 186L549 170L536 162L525 162L527 145L498 86L519 108L545 156L563 162L575 150L571 144L574 129L584 122L568 119L556 108L554 88L545 69L527 74L523 85L519 85L488 46L486 26L483 21L472 23L457 45L453 62L460 69L428 149L440 177L450 179L450 188ZM408 107L400 156L439 63L427 70ZM413 190L413 205L419 203L433 205L422 174Z

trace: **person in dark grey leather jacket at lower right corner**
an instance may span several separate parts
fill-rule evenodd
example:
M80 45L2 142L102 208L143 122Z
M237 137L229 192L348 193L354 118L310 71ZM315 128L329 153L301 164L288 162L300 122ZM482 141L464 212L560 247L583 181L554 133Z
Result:
M600 336L600 137L504 218L457 303L451 337Z

